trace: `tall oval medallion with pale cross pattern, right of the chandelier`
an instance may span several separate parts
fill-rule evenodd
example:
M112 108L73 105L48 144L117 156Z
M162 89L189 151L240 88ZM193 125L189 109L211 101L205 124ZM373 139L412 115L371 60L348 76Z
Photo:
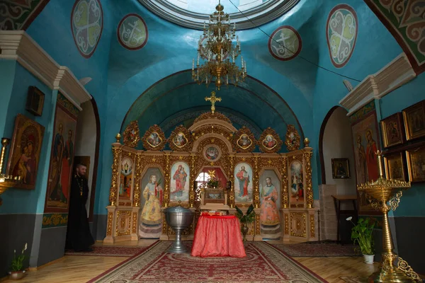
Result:
M346 4L335 6L326 25L327 44L331 62L336 68L344 67L356 46L358 21L356 11Z

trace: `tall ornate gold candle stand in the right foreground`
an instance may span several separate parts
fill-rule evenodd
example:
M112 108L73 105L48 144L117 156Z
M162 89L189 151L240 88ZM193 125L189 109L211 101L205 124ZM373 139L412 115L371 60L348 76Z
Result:
M409 264L392 252L390 224L388 212L395 211L399 206L402 190L410 187L410 182L387 180L383 178L382 152L377 151L379 178L376 181L357 186L360 192L365 193L374 209L382 212L382 260L377 272L368 277L368 282L415 282L421 281Z

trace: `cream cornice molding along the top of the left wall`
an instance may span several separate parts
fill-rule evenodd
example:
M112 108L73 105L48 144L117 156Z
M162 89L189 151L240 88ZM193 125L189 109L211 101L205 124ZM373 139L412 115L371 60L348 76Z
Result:
M80 111L91 100L68 67L60 66L23 30L0 31L0 59L14 59L52 90L58 90Z

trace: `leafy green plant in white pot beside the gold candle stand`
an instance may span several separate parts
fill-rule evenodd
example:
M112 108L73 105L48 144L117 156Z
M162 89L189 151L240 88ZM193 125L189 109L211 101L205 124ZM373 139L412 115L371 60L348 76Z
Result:
M348 217L346 220L351 221L353 217ZM351 221L353 223L353 221ZM357 224L353 223L353 228L351 228L351 240L354 243L358 243L365 263L373 264L373 257L375 256L373 249L373 228L375 227L375 222L370 219L358 219Z

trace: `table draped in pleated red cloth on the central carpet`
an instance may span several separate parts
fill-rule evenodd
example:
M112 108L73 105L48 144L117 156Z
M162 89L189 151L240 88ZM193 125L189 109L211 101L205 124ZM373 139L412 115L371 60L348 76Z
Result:
M196 225L191 255L201 258L244 258L246 253L239 219L234 215L201 215Z

